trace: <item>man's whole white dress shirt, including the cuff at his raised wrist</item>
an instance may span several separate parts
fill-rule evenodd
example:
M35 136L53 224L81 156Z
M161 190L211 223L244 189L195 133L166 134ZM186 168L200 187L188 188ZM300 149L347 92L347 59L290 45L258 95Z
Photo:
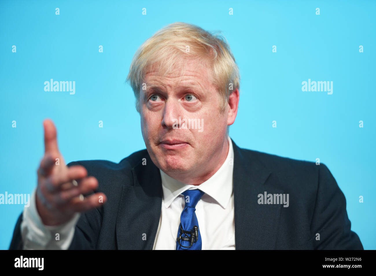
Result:
M162 206L153 250L176 249L177 230L185 200L181 195L188 189L200 189L205 194L196 205L196 216L202 240L202 250L235 249L235 220L233 201L233 148L229 136L229 152L222 166L199 186L186 185L162 170ZM23 249L68 249L80 214L64 225L46 226L36 210L35 190L30 206L23 211L21 235ZM56 234L59 234L56 235ZM59 238L59 240L58 240Z

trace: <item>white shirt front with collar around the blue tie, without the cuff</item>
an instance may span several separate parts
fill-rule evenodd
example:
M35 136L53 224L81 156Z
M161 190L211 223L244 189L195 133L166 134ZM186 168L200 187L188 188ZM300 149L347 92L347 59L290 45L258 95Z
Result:
M229 152L222 166L214 175L199 186L186 185L171 178L162 170L162 213L153 249L176 249L177 230L185 200L184 191L200 189L205 194L197 202L196 216L205 249L235 249L234 201L232 192L233 149L229 140Z

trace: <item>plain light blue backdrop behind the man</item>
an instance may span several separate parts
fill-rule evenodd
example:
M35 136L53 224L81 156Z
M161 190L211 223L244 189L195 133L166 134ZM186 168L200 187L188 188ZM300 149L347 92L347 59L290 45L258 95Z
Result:
M0 193L32 193L45 118L58 128L67 163L118 162L145 148L124 80L137 48L182 21L223 31L237 60L235 143L300 160L320 158L346 196L352 230L365 249L376 249L375 8L375 1L1 1ZM76 81L76 94L45 92L50 78ZM333 81L333 94L302 92L308 78ZM9 247L22 210L0 205L0 249Z

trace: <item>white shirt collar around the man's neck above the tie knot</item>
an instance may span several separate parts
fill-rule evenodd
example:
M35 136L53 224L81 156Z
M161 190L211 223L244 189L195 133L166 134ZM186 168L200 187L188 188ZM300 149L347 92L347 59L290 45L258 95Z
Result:
M205 194L211 196L217 201L222 208L226 208L232 194L232 172L233 172L233 148L232 141L227 136L229 142L229 152L222 166L208 180L199 186L186 185L171 176L168 176L161 169L162 190L164 197L164 205L170 207L171 203L181 193L188 189L200 189Z

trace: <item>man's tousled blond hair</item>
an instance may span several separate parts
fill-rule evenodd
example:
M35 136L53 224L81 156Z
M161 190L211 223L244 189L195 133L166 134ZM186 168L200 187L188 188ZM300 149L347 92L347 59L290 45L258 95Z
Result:
M224 112L229 95L240 89L239 69L226 38L183 22L169 24L147 39L136 51L126 82L129 82L139 109L139 93L146 72L158 69L162 75L171 72L183 58L198 59L199 67L211 69L211 82L221 96L220 110ZM182 71L183 74L183 71Z

